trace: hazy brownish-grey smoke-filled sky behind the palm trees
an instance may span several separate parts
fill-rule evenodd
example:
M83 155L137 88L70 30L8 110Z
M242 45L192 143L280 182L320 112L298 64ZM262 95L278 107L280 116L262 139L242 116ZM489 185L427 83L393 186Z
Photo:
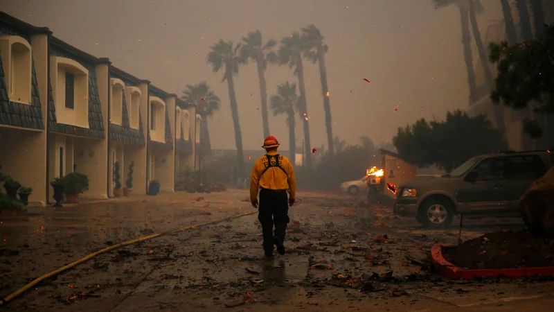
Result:
M483 1L482 30L501 19L499 3ZM468 105L458 9L436 10L431 0L0 0L0 10L46 26L166 92L181 95L185 85L206 80L222 99L209 121L212 148L235 148L235 140L227 85L206 64L206 54L217 40L238 42L256 29L264 40L309 24L321 30L329 46L333 131L349 144L361 135L376 144L391 141L400 125L443 119L447 110ZM286 67L269 67L266 79L268 98L278 84L296 82ZM305 62L305 82L312 146L326 146L317 64ZM240 68L235 89L244 148L260 148L255 64ZM288 146L285 116L271 116L269 127ZM299 120L296 137L301 146Z

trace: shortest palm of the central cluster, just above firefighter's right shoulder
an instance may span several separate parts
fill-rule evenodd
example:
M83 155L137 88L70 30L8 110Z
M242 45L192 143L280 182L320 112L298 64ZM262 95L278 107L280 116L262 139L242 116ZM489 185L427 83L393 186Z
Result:
M289 126L289 152L290 160L294 164L294 159L296 159L296 135L294 133L295 120L294 114L295 110L298 110L298 96L296 95L296 84L295 83L283 83L282 85L277 86L277 94L269 98L269 103L271 105L271 110L273 110L273 115L277 116L279 114L287 115L287 125Z

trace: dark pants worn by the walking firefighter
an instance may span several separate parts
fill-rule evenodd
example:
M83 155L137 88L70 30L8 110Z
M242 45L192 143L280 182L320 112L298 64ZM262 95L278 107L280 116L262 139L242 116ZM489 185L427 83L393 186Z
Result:
M284 241L287 223L290 221L287 191L261 189L258 211L258 220L262 223L264 250L273 252L273 226L275 225L275 236Z

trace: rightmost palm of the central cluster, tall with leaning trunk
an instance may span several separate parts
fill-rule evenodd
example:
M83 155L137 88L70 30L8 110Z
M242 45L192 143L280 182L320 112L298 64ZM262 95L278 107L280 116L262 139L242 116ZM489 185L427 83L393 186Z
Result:
M331 103L329 100L329 87L327 85L327 67L325 66L325 53L328 51L327 44L323 43L323 36L319 29L313 24L302 28L303 36L309 50L304 56L312 63L319 64L319 79L321 80L321 94L323 95L323 111L325 112L325 128L327 129L327 142L330 155L334 154L333 130L331 121Z

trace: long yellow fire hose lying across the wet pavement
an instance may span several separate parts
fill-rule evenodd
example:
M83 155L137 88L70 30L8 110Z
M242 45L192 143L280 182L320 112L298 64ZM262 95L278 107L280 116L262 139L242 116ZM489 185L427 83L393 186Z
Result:
M221 219L221 220L215 220L215 221L210 221L210 222L201 223L201 224L189 225L188 227L179 227L178 229L172 229L168 232L163 232L163 233L159 233L159 234L152 234L150 236L144 236L144 237L141 237L140 239L134 239L132 241L126 241L124 243L118 243L117 245L109 246L108 248L98 250L97 252L94 252L93 254L89 254L87 257L79 259L78 261L75 261L73 263L69 263L67 266L59 268L59 269L57 269L55 271L52 271L52 272L50 272L46 275L42 275L42 277L39 277L39 278L35 279L34 281L31 281L29 284L25 285L24 287L19 288L19 290L15 291L15 293L12 293L11 295L8 295L8 297L0 299L0 306L3 306L5 304L7 304L11 300L13 300L15 297L21 295L21 293L24 293L25 291L28 291L29 288L32 288L33 286L35 286L39 282L43 281L44 279L47 279L48 277L53 277L54 275L58 275L61 272L64 272L65 270L73 268L74 266L77 266L80 263L83 263L85 261L88 261L88 260L98 256L98 254L103 254L105 252L109 252L111 250L114 250L114 249L117 249L117 248L120 248L120 247L123 247L123 246L132 245L134 243L139 243L141 241L148 241L149 239L155 239L155 238L160 237L160 236L167 236L167 235L175 234L175 233L178 233L178 232L185 231L187 229L194 229L194 228L197 228L197 227L204 227L206 225L213 225L213 224L216 224L216 223L221 223L223 221L227 221L227 220L231 220L231 219L235 219L235 218L240 218L240 217L243 217L243 216L249 216L251 214L256 214L257 212L258 211L250 211L250 212L246 212L244 214L238 214L236 216L231 216L229 218L224 218L224 219Z

